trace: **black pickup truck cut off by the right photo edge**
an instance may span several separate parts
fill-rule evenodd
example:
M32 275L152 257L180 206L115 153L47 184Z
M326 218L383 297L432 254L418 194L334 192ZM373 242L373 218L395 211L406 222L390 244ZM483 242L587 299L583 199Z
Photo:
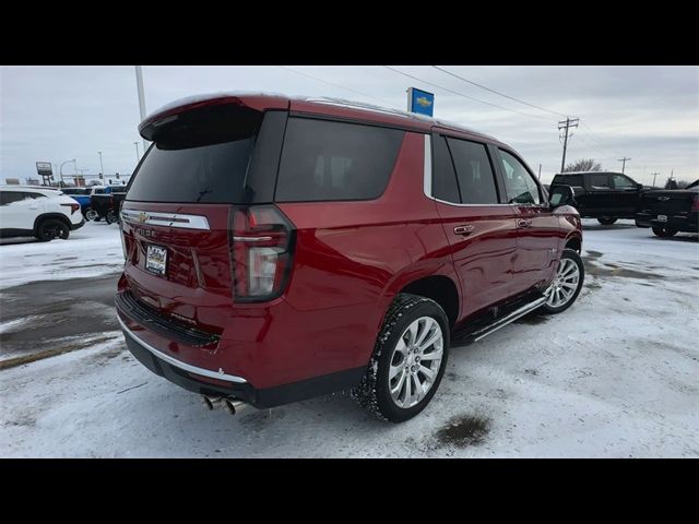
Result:
M699 180L685 189L644 191L636 225L652 227L659 237L672 237L678 231L699 233Z

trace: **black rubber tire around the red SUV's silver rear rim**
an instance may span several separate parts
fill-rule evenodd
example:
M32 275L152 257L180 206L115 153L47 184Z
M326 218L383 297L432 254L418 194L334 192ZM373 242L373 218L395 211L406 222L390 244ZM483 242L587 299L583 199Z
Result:
M391 398L389 369L393 349L401 335L420 317L430 317L439 323L443 341L442 357L437 377L425 397L415 406L403 408ZM413 418L429 404L439 388L449 357L449 320L437 302L417 295L399 294L386 314L366 374L359 386L352 390L352 396L362 406L391 422L402 422Z

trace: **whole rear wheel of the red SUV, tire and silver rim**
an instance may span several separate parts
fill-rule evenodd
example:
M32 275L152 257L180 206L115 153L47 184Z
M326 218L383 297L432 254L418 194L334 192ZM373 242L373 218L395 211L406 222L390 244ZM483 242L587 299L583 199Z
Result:
M445 310L428 298L399 294L386 314L366 374L352 394L381 418L408 420L431 401L448 355Z

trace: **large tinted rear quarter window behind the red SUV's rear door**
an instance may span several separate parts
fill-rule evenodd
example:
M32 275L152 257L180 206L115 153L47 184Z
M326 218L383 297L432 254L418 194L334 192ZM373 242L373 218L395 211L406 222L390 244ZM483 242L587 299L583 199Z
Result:
M388 183L403 131L289 118L275 200L372 200Z

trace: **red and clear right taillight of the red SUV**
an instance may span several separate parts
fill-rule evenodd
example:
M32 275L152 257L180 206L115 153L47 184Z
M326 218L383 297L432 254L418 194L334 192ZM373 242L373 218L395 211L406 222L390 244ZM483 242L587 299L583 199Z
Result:
M242 302L279 297L292 266L293 224L273 205L236 207L230 216L235 299Z

